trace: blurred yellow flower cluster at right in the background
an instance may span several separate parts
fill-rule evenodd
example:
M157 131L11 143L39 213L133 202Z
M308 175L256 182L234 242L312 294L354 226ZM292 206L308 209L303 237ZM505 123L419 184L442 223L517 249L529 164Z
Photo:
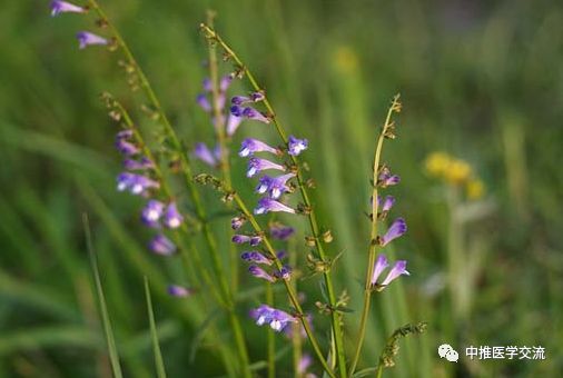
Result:
M485 192L483 181L475 175L470 163L445 152L431 153L424 161L424 168L431 177L439 178L451 186L464 187L471 200L480 199Z

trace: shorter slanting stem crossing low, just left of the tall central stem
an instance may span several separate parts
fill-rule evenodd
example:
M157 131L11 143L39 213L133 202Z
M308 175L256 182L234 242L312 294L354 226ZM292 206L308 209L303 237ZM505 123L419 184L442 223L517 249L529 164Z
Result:
M236 192L234 195L234 200L237 203L237 206L240 208L240 210L243 211L245 217L248 219L248 221L253 226L254 230L260 235L265 235L265 232L263 231L260 225L258 223L258 221L256 220L254 215L248 210L248 207L246 206L246 203L243 201L240 196ZM276 255L276 250L271 246L271 242L266 235L263 237L263 242L266 247L266 250L269 253L269 257L274 260L274 263L276 265L276 267L278 269L282 269L283 263L278 259L278 257ZM297 317L300 319L302 325L305 328L305 332L307 334L307 337L310 341L310 345L313 346L313 349L315 350L315 354L316 354L318 360L320 361L320 365L323 366L325 371L328 374L328 376L330 376L332 378L335 378L336 376L333 372L333 370L328 367L328 364L327 364L325 357L323 356L323 351L320 350L320 347L318 345L317 338L313 334L309 322L305 318L305 315L303 312L303 308L299 304L299 300L297 299L297 295L296 295L294 288L292 287L292 285L287 280L284 280L284 286L285 286L287 295L289 297L289 301L292 302L293 307L295 308L295 310L297 312Z

